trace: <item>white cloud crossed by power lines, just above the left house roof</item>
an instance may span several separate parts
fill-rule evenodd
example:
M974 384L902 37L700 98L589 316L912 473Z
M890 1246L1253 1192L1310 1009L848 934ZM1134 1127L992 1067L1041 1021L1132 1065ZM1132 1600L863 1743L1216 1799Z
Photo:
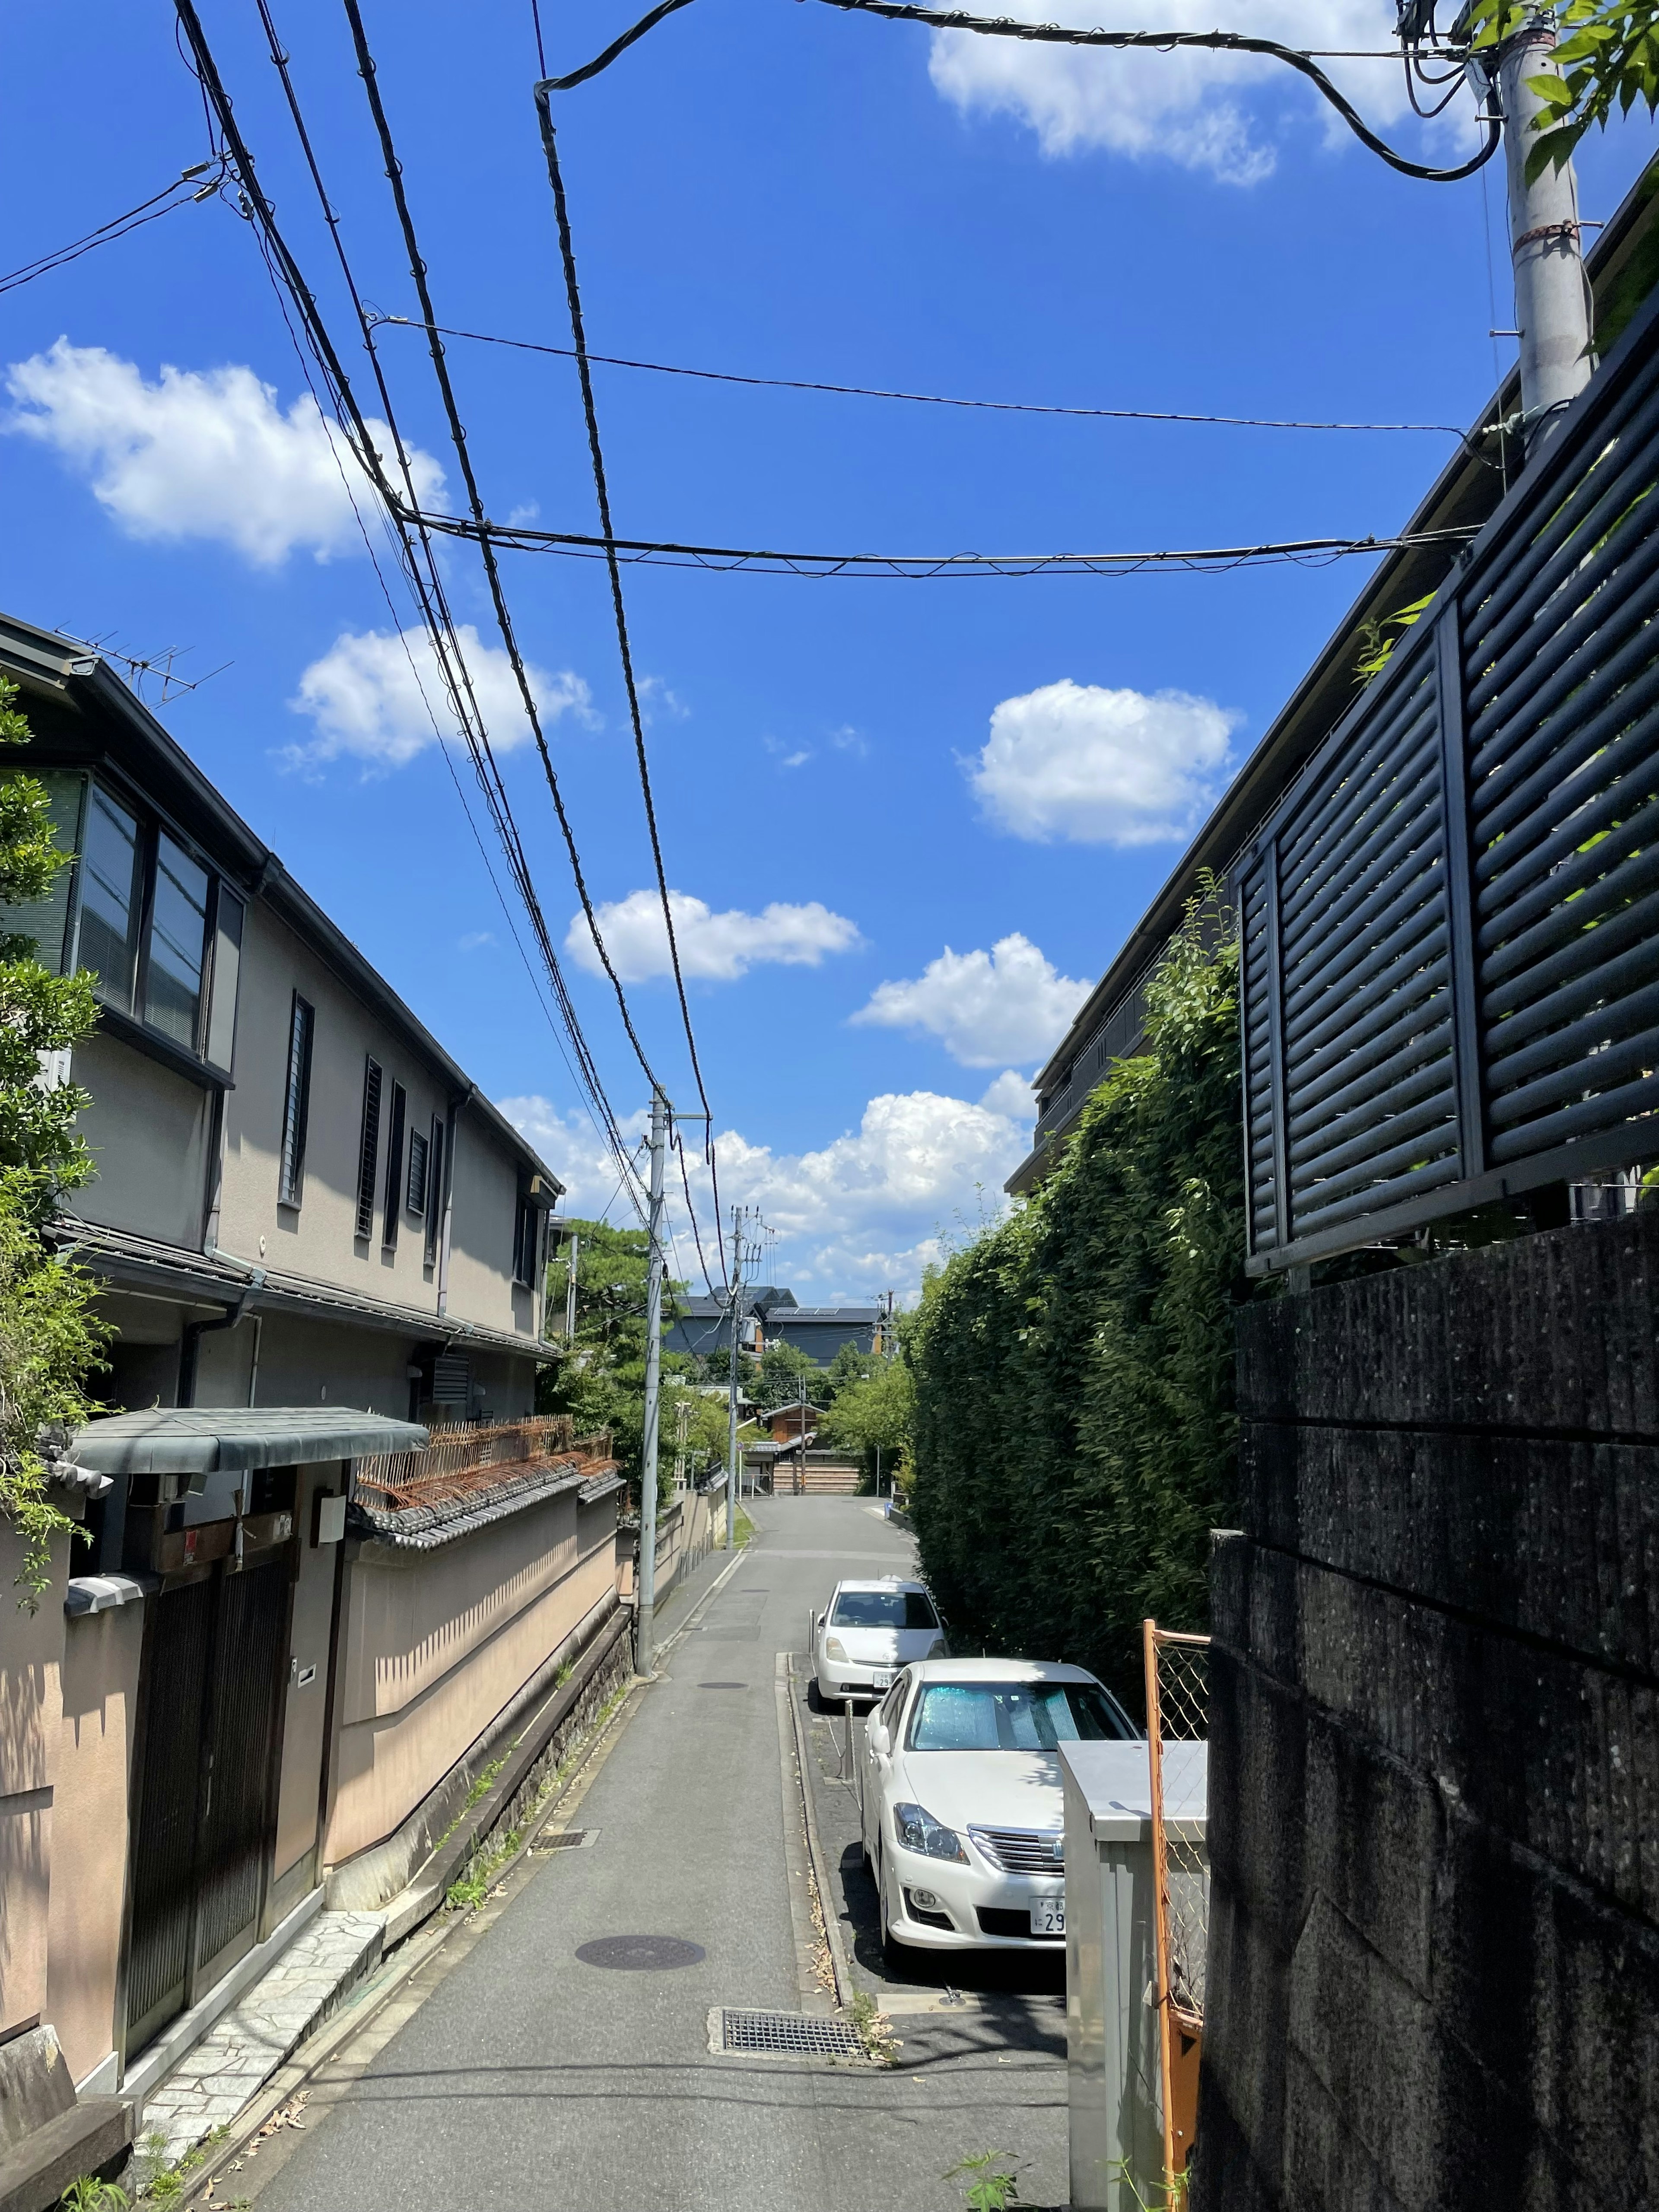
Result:
M456 637L491 745L511 752L531 734L513 664L502 646L487 646L469 622L456 626ZM546 668L531 666L529 679L544 723L571 712L582 721L593 719L588 686L568 668L549 675ZM288 706L316 726L307 745L288 745L283 752L296 768L341 754L376 768L403 768L434 745L438 734L460 734L425 630L343 630L301 675L299 692Z

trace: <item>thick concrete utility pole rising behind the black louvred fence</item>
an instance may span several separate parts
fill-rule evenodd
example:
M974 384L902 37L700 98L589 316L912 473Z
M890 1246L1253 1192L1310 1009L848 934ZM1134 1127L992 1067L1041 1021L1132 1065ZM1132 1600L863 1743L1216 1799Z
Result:
M1509 168L1509 252L1515 265L1520 330L1522 438L1535 451L1555 434L1562 409L1590 380L1590 303L1584 283L1579 188L1573 164L1548 164L1526 181L1544 108L1528 77L1553 77L1555 24L1542 11L1498 49L1498 91Z

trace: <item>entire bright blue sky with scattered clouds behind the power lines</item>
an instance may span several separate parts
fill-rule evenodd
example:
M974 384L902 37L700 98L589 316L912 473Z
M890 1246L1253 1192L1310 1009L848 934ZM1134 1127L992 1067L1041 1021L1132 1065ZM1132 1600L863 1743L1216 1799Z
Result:
M586 60L633 13L551 0L549 64ZM1113 20L1214 13L1137 0ZM257 13L206 0L204 20L356 363ZM529 0L405 0L367 20L442 321L568 345ZM1248 27L1369 46L1391 20L1387 0L1272 0ZM7 261L206 153L168 13L88 0L75 22L64 38L60 7L13 0L0 31ZM283 0L276 22L363 290L416 314L343 13ZM1455 137L1398 115L1398 66L1347 64L1345 84L1405 146L1455 157ZM557 122L597 352L984 398L1464 422L1493 385L1489 330L1511 321L1498 166L1493 276L1478 179L1391 175L1270 66L697 0ZM1586 215L1613 210L1652 137L1641 124L1586 146ZM414 710L396 641L414 611L398 597L394 624L361 551L248 226L223 201L186 208L0 314L0 604L135 655L188 646L184 672L228 661L166 708L170 730L511 1102L575 1203L602 1206L615 1177ZM405 436L458 500L418 336L385 332L383 358ZM489 511L593 529L571 365L462 341L451 365ZM595 378L617 529L699 542L1363 535L1405 520L1451 445ZM495 697L465 549L449 584ZM588 880L622 909L608 933L630 1000L695 1104L633 898L653 878L604 571L509 555L507 584ZM1115 582L628 577L668 874L701 902L681 936L723 1181L779 1228L781 1281L816 1298L909 1287L936 1237L978 1217L975 1190L1024 1150L1024 1077L1360 584L1358 562ZM493 726L562 936L575 896L504 697ZM626 1117L644 1084L580 940L571 969Z

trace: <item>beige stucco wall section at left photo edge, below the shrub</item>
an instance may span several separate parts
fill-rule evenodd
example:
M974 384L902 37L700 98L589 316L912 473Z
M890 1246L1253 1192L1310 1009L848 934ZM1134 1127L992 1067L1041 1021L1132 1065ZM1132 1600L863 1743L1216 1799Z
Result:
M22 1544L0 1522L0 2035L46 2013L53 1783L62 1734L69 1537L33 1613L18 1604Z

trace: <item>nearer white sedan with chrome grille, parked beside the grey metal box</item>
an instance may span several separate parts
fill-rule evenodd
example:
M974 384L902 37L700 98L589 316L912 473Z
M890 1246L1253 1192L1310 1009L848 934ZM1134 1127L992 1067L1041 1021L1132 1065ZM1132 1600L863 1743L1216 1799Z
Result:
M1060 1745L1137 1728L1079 1666L925 1659L865 1723L863 1843L887 1958L1066 1936Z

